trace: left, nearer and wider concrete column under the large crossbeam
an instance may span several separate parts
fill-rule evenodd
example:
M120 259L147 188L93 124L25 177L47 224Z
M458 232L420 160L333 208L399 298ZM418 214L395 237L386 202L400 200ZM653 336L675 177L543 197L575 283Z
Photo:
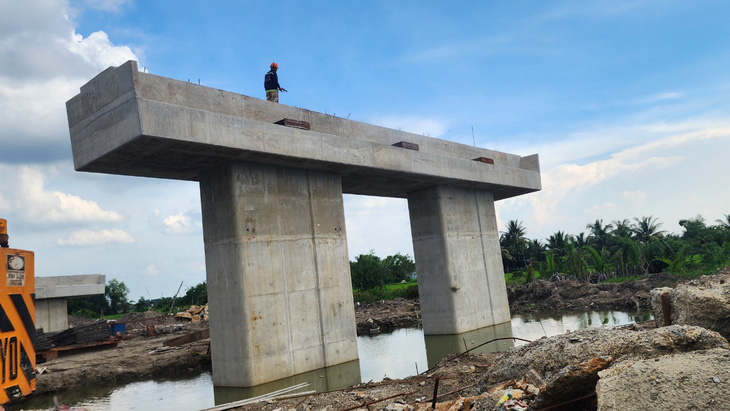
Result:
M214 385L356 360L340 177L234 162L200 192Z

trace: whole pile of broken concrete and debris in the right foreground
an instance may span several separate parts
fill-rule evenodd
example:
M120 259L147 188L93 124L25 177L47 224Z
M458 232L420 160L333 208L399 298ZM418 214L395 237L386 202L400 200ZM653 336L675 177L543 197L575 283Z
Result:
M654 291L657 328L647 322L568 332L489 357L454 355L403 380L236 409L730 409L730 344L724 328L730 323L730 272L669 292L665 300L673 325L660 326L661 293Z

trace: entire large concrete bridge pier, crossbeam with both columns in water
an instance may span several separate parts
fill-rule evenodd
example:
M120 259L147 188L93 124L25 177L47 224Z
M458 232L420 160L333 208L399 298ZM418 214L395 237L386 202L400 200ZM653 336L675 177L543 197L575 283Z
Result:
M407 198L427 334L509 321L494 201L519 156L110 67L66 103L76 170L198 181L213 382L357 358L342 193ZM254 164L255 163L255 164Z

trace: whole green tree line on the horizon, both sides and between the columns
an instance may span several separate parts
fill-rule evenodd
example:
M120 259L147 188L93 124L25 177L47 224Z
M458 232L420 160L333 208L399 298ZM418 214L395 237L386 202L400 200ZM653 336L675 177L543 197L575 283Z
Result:
M661 230L662 223L653 216L610 223L599 219L587 224L586 232L557 231L544 241L528 238L522 222L511 220L499 238L504 271L508 278L522 282L534 278L599 282L658 272L711 274L730 265L730 214L723 217L709 225L701 216L680 220L681 234ZM408 283L415 272L415 262L408 255L360 254L350 261L355 301L418 298L416 285L388 286ZM132 310L169 312L173 302L172 297L140 297L134 302L128 294L123 282L112 279L103 296L68 300L68 312L96 318ZM207 303L207 284L202 282L178 297L175 307Z

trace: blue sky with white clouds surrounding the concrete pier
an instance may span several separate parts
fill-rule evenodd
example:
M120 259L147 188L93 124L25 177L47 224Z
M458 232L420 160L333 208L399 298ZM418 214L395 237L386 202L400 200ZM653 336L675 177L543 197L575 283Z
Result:
M65 101L108 66L480 147L540 155L499 202L530 238L730 213L724 1L0 0L0 217L36 275L137 299L205 279L195 183L73 170ZM473 132L472 132L473 130ZM350 258L412 255L404 200L346 196Z

